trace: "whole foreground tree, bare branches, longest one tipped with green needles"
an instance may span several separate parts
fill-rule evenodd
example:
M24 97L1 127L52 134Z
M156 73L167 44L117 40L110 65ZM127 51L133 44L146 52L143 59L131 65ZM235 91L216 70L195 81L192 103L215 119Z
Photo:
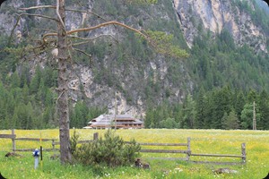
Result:
M147 42L149 42L150 45L154 47L155 50L157 50L159 53L167 54L167 51L169 51L169 48L173 49L172 47L165 47L166 43L158 42L154 36L149 38L149 35L144 30L136 30L122 22L119 21L106 21L103 17L101 17L99 14L89 11L82 11L82 10L74 10L74 9L65 9L65 0L56 0L56 6L55 5L38 5L38 6L32 6L28 8L21 8L22 11L27 10L34 10L34 9L42 9L42 8L50 8L56 10L56 17L50 17L43 14L33 14L33 13L21 13L19 14L19 18L21 18L23 15L30 15L35 16L39 18L45 18L49 21L56 21L57 28L56 32L48 32L42 35L42 38L38 40L38 47L35 47L35 49L39 50L39 53L42 53L43 48L51 47L50 44L56 44L56 48L53 50L54 55L56 55L57 60L57 70L58 70L58 77L57 77L57 83L58 83L58 98L56 99L56 108L57 108L57 115L59 117L59 139L60 139L60 160L62 164L68 163L72 159L71 150L70 150L70 134L69 134L69 107L68 107L68 74L67 74L67 64L68 59L71 58L70 50L74 50L77 52L82 53L83 55L91 56L87 54L86 52L82 51L81 49L75 48L75 46L79 46L81 44L90 42L96 38L100 38L102 36L108 36L110 38L115 39L111 35L100 35L96 38L81 38L74 36L77 32L83 32L83 31L91 31L91 30L97 30L102 27L106 26L119 26L126 30L132 30L134 33L139 34L141 37L145 38ZM100 18L102 23L82 28L82 29L75 29L75 30L66 30L65 29L65 12L71 11L75 13L91 13L92 15L97 16ZM18 19L19 21L19 19ZM18 23L16 23L18 24ZM13 29L14 30L14 29ZM51 30L50 30L51 31ZM151 35L150 35L151 36ZM79 39L81 41L76 43L71 43L72 39ZM168 43L169 44L169 43ZM165 48L164 48L165 47ZM158 48L160 48L158 50ZM37 51L38 51L37 50ZM169 53L174 53L173 50ZM181 52L180 52L181 53ZM179 56L186 56L187 53L183 52Z

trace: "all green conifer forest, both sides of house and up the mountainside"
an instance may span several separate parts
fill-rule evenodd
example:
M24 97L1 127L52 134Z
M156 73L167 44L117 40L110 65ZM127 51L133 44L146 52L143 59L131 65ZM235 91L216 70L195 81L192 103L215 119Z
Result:
M134 45L130 53L124 50L124 57L121 55L124 46L116 48L119 52L118 64L114 64L116 67L130 66L127 62L136 60L134 58L141 59L138 60L141 67L148 61L145 58L151 56L152 52L143 53L148 48L139 39ZM97 47L91 50L98 52L94 54L103 55ZM33 69L29 65L15 65L20 51L20 47L12 47L1 54L1 129L56 127L56 71L48 65L42 68L37 66L34 72L31 72ZM247 46L237 47L227 30L214 39L210 38L210 34L195 38L189 54L186 64L196 83L193 95L187 95L182 104L172 105L169 98L173 94L166 89L162 105L151 105L154 104L154 97L161 93L161 81L153 81L153 75L149 76L144 91L144 100L148 104L144 119L147 128L252 129L252 109L256 101L257 129L269 129L268 56L256 55ZM173 84L180 85L178 81L182 77L179 68L180 62L169 58L171 73L167 78ZM108 81L114 81L112 73L95 76L95 82L108 84ZM116 83L119 86L119 82ZM124 94L128 95L129 92ZM93 117L105 112L104 107L90 107L85 100L71 108L70 126L76 128L85 126Z

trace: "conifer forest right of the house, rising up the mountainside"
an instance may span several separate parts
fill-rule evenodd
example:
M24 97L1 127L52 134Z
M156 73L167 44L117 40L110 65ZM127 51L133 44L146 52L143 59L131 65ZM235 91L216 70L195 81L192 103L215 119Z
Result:
M269 129L268 55L236 46L228 30L214 38L202 32L190 55L193 95L182 104L148 107L146 128L252 129L255 101L257 129Z

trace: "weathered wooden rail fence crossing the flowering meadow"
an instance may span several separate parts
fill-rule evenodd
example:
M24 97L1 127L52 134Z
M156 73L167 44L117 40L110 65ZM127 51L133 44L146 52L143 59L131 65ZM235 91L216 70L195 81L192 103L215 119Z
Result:
M12 134L0 134L0 139L11 139L13 141L13 151L33 151L34 149L16 149L15 141L40 141L38 138L16 138L16 134L14 130ZM98 139L98 133L93 134L93 140L88 141L78 141L78 143L89 143L91 141ZM41 141L51 141L51 149L43 149L44 151L58 151L56 149L56 145L60 143L56 139L41 139ZM186 158L160 158L160 159L169 159L169 160L185 160L194 163L213 163L215 165L238 165L238 164L246 164L247 161L247 153L246 153L246 143L241 144L241 154L240 155L233 155L233 154L196 154L192 153L191 139L187 138L187 143L140 143L141 146L157 146L160 147L184 147L185 149L141 149L140 152L142 153L173 153L173 154L186 154ZM128 143L128 141L126 141ZM219 161L194 161L191 160L191 157L213 157L213 158L241 158L241 162L219 162Z

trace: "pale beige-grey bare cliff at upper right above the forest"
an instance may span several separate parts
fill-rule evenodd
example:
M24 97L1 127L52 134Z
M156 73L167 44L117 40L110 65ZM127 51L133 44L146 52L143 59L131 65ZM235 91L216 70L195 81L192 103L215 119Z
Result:
M247 0L247 3L255 11L253 2ZM250 14L240 11L232 1L174 0L174 6L189 47L202 27L213 33L225 28L239 45L247 43L267 53L265 32L252 21Z

